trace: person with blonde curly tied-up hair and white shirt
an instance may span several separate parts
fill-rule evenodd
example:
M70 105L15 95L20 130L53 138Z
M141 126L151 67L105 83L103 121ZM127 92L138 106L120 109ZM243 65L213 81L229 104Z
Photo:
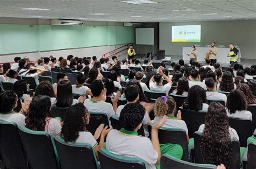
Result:
M167 116L167 121L164 123L164 128L180 128L185 130L187 135L187 143L189 142L188 130L186 123L181 119L181 111L178 111L177 118L174 116L176 111L176 102L171 96L161 96L157 98L154 104L154 120L152 123L158 123Z

